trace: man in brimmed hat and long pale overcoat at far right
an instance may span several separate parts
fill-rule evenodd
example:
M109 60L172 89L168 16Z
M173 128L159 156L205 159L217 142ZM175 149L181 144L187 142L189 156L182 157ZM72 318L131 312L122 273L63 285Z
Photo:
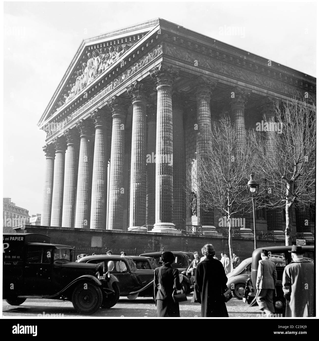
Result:
M301 246L293 245L292 262L282 275L282 290L286 298L286 317L314 316L314 272L313 262L303 258Z

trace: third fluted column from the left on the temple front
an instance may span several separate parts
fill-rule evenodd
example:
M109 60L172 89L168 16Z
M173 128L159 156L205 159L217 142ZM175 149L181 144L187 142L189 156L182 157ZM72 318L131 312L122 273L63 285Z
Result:
M74 228L76 183L80 141L78 137L78 132L75 130L68 129L64 133L64 136L67 139L67 152L64 167L62 226Z

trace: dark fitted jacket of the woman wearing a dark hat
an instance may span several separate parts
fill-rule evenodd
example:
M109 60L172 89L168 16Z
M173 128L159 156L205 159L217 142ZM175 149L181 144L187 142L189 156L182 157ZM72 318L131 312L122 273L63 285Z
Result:
M172 298L174 288L180 290L182 285L179 283L179 273L171 266L161 266L154 271L154 297L164 300Z

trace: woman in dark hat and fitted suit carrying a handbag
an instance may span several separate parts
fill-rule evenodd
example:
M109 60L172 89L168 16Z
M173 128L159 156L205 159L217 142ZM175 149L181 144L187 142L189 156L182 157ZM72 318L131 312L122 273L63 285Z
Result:
M177 269L172 268L175 256L172 252L163 252L161 256L162 266L154 271L154 297L157 309L156 317L180 317L179 304L173 300L173 291L180 291L182 285L179 282Z

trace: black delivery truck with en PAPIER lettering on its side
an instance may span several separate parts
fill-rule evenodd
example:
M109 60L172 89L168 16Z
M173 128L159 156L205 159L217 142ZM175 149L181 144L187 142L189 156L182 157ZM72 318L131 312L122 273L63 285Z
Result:
M67 299L80 314L111 308L118 280L99 264L73 262L73 248L51 244L41 234L3 234L3 298L20 305L27 298Z

